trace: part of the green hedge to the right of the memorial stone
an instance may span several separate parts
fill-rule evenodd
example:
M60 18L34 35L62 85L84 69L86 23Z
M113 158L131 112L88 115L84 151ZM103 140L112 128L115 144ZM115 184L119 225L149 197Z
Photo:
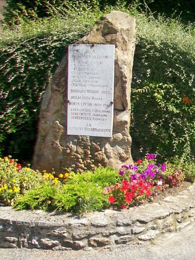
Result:
M175 20L140 15L132 82L134 158L195 155L195 38Z

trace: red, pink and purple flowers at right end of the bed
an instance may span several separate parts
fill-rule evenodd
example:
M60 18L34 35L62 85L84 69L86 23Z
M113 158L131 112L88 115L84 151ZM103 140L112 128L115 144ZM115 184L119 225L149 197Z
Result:
M120 181L104 188L104 194L114 206L126 209L184 181L182 170L172 172L171 164L157 163L156 157L156 154L149 154L135 165L121 166Z

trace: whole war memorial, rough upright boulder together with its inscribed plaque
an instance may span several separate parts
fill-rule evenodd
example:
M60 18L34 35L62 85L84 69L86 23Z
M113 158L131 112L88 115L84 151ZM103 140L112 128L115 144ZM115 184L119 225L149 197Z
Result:
M84 79L81 77L90 74L79 74L78 72L79 70L82 72L83 70L85 70L84 72L88 70L91 71L91 76L97 72L94 72L93 67L92 70L90 70L91 66L85 67L84 63L82 66L83 60L80 59L79 55L76 55L77 57L75 58L80 62L80 65L74 65L76 70L75 76L78 75L79 77L73 77L74 73L70 73L70 71L71 69L74 70L74 68L69 68L70 71L68 72L68 57L65 56L63 58L43 97L40 109L39 136L34 155L34 169L51 171L51 168L54 168L57 173L66 170L81 173L85 170L94 170L96 167L101 166L112 166L119 169L121 164L130 164L133 162L131 157L129 128L135 40L135 19L129 17L126 13L112 11L98 21L88 36L76 43L76 47L78 44L82 44L84 48L86 46L86 48L90 50L88 52L90 58L84 58L91 59L90 62L92 63L93 60L94 62L101 62L102 57L105 59L105 56L107 56L106 59L112 59L112 52L104 53L104 51L100 51L98 55L100 55L101 58L97 58L98 56L93 50L96 49L98 44L101 44L102 48L103 45L114 45L115 68L113 100L111 98L112 95L103 100L104 96L110 93L108 93L107 90L108 84L106 80L105 84L102 82L103 70L102 75L98 73L92 78L92 92L90 93L89 85L83 85L85 84L83 80L88 81L90 80L89 77L84 77ZM69 48L71 49L70 46ZM69 55L71 55L70 49ZM85 55L87 55L87 51ZM92 56L94 56L94 58ZM109 64L111 64L111 62L109 62L108 65ZM97 66L100 65L100 63L97 63ZM78 69L76 69L77 67ZM71 88L68 90L67 87L69 80L71 80L70 82L72 84L72 93L70 93ZM90 82L88 83L90 84ZM96 90L99 91L99 93L93 93L93 91ZM78 93L79 91L80 93ZM81 93L82 91L83 93ZM88 91L89 93L84 93L84 91ZM99 100L93 102L92 98ZM87 108L84 103L81 104L81 101L91 103L92 108L97 110L97 112L93 112L92 109ZM72 111L71 108L73 109ZM87 109L89 110L87 111ZM73 112L72 115L71 112ZM110 113L113 113L113 119ZM71 120L68 122L70 129L67 129L67 120L71 116L73 116L72 122ZM99 120L98 126L93 127L95 119L92 119L92 117L98 120L112 119L113 128L104 127L105 125L101 120ZM72 125L74 119L75 126ZM81 119L79 123L77 121L78 119ZM85 120L88 121L87 126L84 126ZM110 125L110 123L108 123L108 125ZM77 128L76 132L74 132L74 127L75 129ZM86 127L86 129L88 128L87 130L90 129L90 132L95 132L94 135L83 135L85 132L82 131L86 130L84 127ZM105 129L110 129L107 130L107 132L110 131L111 134L103 133L103 135L97 135L97 132L105 132Z

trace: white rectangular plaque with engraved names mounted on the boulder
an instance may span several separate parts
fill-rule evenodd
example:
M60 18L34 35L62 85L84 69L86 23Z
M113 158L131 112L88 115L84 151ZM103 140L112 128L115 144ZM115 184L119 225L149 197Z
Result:
M67 134L112 137L115 45L68 47Z

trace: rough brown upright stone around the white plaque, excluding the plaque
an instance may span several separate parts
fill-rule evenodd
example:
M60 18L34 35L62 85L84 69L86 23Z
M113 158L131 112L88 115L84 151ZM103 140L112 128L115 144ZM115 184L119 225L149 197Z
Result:
M39 137L35 149L34 169L54 168L82 172L95 167L132 163L130 109L131 79L135 51L135 19L112 11L103 16L90 34L77 44L115 45L113 136L90 137L66 134L67 57L56 70L45 92L39 120Z

